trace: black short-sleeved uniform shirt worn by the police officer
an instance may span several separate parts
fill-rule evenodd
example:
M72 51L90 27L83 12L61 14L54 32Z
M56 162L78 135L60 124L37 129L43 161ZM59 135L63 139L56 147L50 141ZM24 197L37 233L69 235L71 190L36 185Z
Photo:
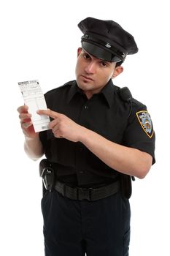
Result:
M101 93L90 99L78 88L75 80L48 91L45 99L47 108L65 114L108 140L145 151L155 162L155 134L149 134L142 125L142 120L146 119L142 119L142 113L147 113L146 106L135 99L131 103L121 99L120 89L113 85L112 80ZM40 132L39 137L45 156L55 163L57 176L65 181L78 186L104 184L119 175L80 142L55 138L51 130Z

